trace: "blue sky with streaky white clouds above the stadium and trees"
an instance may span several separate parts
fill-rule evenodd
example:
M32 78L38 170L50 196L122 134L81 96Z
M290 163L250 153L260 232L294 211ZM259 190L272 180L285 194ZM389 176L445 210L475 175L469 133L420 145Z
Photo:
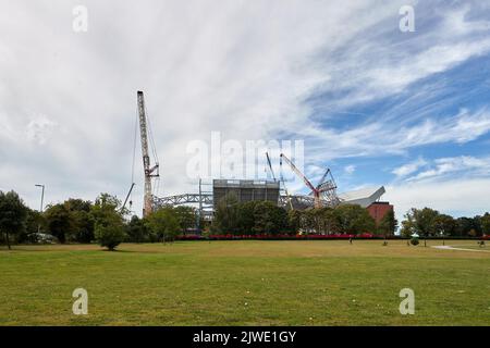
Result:
M210 148L215 133L243 147L303 141L311 182L330 167L340 192L383 185L399 219L412 207L490 210L488 1L0 5L0 190L33 209L35 184L56 203L123 199L134 179L140 213L144 90L158 196L197 191L189 145ZM77 5L87 30L74 29ZM400 28L405 5L414 32ZM297 181L290 188L308 192Z

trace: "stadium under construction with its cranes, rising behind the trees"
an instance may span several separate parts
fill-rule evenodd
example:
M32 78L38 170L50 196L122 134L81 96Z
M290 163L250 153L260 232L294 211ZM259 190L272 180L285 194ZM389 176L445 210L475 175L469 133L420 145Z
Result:
M196 208L199 217L210 221L213 219L213 211L217 204L229 195L234 195L238 202L270 201L285 210L307 210L323 207L335 208L339 204L358 204L367 209L377 223L381 221L388 211L393 210L392 204L381 200L381 197L385 192L384 186L368 187L339 194L338 185L330 169L327 167L317 185L314 185L284 153L281 153L279 157L280 175L278 177L273 171L272 160L268 152L264 153L264 157L267 160L268 174L271 176L271 179L232 179L222 177L212 178L210 182L199 179L194 192L158 197L154 194L152 188L155 181L159 181L160 178L160 164L156 154L155 141L152 140L143 91L137 91L137 110L144 169L143 216L147 216L152 211L162 207L184 204ZM152 161L150 153L152 154ZM290 192L286 187L287 184L284 179L283 170L291 171L303 181L309 194L297 195ZM132 204L130 198L135 183L132 183L123 207L127 202L130 202L130 206Z

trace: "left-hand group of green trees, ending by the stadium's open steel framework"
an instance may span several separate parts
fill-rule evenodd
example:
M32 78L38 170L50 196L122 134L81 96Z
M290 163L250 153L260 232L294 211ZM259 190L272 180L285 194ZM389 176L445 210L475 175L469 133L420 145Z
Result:
M97 241L113 250L122 241L172 241L185 234L197 221L192 207L166 207L145 219L134 215L121 200L100 194L94 202L70 198L49 204L46 210L29 209L15 191L0 191L0 243L58 241L88 244Z

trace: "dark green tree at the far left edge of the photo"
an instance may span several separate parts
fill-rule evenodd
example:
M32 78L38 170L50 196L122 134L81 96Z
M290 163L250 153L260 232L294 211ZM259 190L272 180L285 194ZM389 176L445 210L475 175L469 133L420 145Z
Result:
M15 191L0 191L0 232L5 234L9 250L10 235L20 234L25 228L27 207Z

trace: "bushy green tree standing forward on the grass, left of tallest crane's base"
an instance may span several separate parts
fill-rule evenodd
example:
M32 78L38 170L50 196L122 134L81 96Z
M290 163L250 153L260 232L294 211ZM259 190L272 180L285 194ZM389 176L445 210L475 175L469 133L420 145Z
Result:
M110 251L115 250L124 240L124 226L122 216L115 211L107 211L103 219L95 223L95 237L101 247Z

